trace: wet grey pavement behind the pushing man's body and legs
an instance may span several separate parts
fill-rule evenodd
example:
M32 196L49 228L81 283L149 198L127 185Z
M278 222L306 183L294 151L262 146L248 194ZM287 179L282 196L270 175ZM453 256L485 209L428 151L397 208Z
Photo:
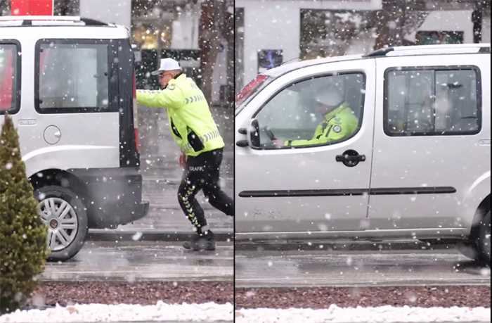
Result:
M179 149L171 139L167 117L160 109L140 108L139 113L143 200L150 202L148 215L117 229L91 229L89 240L181 241L193 234L193 227L183 215L176 197L182 170L177 162ZM212 108L212 114L226 143L221 187L233 197L233 110L216 107ZM202 192L197 198L216 240L233 239L233 217L212 208Z

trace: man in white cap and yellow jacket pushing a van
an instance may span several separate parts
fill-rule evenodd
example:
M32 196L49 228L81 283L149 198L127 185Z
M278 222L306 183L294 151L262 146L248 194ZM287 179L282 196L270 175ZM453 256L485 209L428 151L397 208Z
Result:
M184 167L178 190L178 201L188 220L196 229L184 248L214 250L214 234L207 228L203 209L195 195L203 190L209 203L226 215L234 214L233 200L219 187L219 167L224 140L212 118L207 100L195 82L186 77L179 63L163 58L153 75L160 76L160 91L138 90L138 103L166 108L171 135L181 149L179 164Z

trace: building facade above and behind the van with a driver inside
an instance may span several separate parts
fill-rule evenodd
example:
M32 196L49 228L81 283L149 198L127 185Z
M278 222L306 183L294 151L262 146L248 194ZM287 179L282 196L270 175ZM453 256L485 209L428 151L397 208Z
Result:
M481 3L236 0L235 91L286 61L367 53L388 39L400 46L490 42L490 4Z

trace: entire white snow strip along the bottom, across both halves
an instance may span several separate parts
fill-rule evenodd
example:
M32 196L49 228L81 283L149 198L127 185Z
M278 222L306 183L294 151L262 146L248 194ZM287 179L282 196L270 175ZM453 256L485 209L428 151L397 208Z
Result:
M166 304L156 305L70 305L47 310L27 310L0 316L0 323L32 322L162 322L201 321L232 322L233 305ZM381 306L378 308L339 308L326 310L306 308L254 308L235 311L236 323L392 323L392 322L491 322L490 308L410 308Z

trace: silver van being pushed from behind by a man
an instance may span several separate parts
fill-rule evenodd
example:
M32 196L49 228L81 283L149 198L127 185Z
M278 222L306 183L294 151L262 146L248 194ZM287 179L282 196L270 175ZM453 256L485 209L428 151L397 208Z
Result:
M78 17L1 17L0 82L0 114L8 112L18 129L52 260L75 255L89 228L148 212L125 27Z

